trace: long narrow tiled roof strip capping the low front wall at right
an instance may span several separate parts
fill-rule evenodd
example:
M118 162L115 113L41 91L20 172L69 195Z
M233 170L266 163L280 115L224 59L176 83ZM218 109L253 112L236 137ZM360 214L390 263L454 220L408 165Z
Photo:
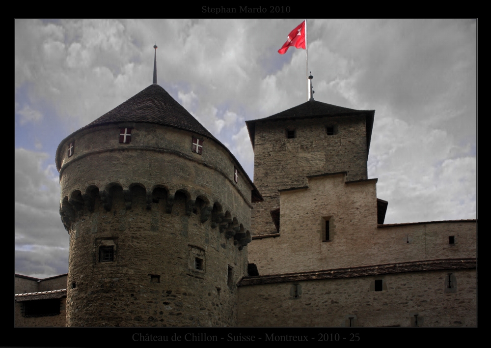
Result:
M243 277L238 286L273 284L286 282L299 282L318 279L338 279L368 277L380 274L394 274L405 272L437 271L446 269L473 269L476 268L476 258L465 259L436 259L422 261L408 261L397 263L384 263L370 266L348 268L334 268L321 271L273 274L256 277Z

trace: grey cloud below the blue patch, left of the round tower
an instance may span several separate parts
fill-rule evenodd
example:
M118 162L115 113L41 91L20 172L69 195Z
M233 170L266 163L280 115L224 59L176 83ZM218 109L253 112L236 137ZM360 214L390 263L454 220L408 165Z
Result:
M16 272L53 276L68 267L68 234L59 217L60 189L49 156L15 150ZM61 261L66 261L63 263Z

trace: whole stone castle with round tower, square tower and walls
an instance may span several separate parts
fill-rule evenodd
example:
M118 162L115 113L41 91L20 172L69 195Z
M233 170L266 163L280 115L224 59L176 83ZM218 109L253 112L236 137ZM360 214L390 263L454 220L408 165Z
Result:
M476 220L383 224L374 114L311 98L246 121L252 182L154 65L58 146L69 271L16 275L16 325L476 326Z

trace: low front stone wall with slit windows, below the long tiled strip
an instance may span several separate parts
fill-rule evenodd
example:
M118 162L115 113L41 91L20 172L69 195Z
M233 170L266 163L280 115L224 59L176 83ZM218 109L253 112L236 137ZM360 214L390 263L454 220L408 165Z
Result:
M452 273L455 292L445 292ZM371 284L382 280L384 289ZM292 295L300 286L298 298ZM239 326L477 326L476 271L451 270L239 287Z

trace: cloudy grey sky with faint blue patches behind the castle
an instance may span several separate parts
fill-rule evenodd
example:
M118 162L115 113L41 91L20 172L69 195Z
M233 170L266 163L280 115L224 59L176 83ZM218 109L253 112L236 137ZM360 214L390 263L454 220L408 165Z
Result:
M306 101L303 19L16 20L15 272L68 271L55 151L158 83L253 179L245 121ZM476 22L309 20L315 100L375 110L368 177L385 223L476 218Z

